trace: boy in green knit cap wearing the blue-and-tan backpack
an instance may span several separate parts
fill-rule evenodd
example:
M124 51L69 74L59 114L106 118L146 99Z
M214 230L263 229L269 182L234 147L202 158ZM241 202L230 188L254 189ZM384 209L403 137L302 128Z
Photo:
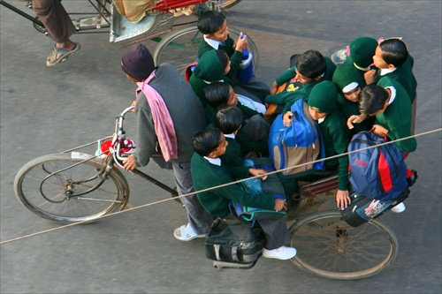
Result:
M339 65L340 66L340 65ZM347 146L350 142L350 134L346 126L346 118L337 108L338 91L333 83L324 80L318 83L309 94L309 114L316 120L321 129L324 139L325 155L327 157L347 153ZM284 116L284 124L292 123L291 111ZM336 204L345 208L350 203L348 189L348 156L339 156L325 161L326 170L338 171L338 192L336 193Z

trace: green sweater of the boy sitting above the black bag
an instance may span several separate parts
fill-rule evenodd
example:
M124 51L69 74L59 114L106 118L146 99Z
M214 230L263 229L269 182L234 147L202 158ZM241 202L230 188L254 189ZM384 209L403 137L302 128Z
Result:
M190 171L198 200L200 200L202 207L210 215L218 217L229 215L230 201L263 209L273 209L275 207L275 196L273 194L254 195L243 191L239 184L226 185L206 192L198 192L217 185L233 182L231 172L223 163L221 163L221 166L217 166L195 153L191 160Z

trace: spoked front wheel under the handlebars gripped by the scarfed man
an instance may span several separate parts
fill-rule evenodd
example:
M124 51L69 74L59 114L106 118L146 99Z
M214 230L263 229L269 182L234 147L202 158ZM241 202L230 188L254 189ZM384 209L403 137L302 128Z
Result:
M129 199L126 178L117 169L102 179L101 160L76 152L45 155L18 172L14 191L34 214L55 222L91 222L123 209Z

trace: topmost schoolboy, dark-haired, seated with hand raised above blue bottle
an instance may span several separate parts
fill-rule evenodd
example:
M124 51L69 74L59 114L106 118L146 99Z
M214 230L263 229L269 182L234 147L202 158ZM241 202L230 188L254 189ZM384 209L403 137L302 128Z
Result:
M248 82L241 82L237 79L238 69L242 61L242 50L248 47L247 35L242 34L235 42L229 36L229 28L227 26L227 19L222 12L205 11L202 13L197 23L198 29L204 34L204 41L201 42L198 49L198 58L201 58L204 53L210 50L224 50L232 62L230 72L227 74L232 80L232 86L239 94L244 94L256 102L264 102L265 96L270 93L269 86L261 79L256 79L255 76Z

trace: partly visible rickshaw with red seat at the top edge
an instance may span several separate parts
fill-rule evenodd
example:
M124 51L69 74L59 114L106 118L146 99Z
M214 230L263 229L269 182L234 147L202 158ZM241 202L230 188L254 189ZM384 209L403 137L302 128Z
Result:
M88 0L88 3L93 6L94 11L69 13L75 17L72 17L72 23L77 28L77 34L108 33L110 43L118 48L146 40L156 41L158 45L154 52L155 63L167 62L179 71L183 71L188 64L197 60L196 53L202 41L202 34L196 27L197 16L207 10L224 11L239 4L240 0L161 0L146 11L146 16L138 23L130 22L120 15L110 0ZM38 18L4 0L0 0L0 4L31 20L40 33L49 35ZM32 7L32 0L27 1L27 6ZM188 6L194 7L192 15L176 17L172 13L173 10ZM78 15L80 18L76 18ZM229 30L232 39L237 40L240 31L233 27ZM253 54L256 70L259 54L255 42L250 37L248 37L248 50Z

